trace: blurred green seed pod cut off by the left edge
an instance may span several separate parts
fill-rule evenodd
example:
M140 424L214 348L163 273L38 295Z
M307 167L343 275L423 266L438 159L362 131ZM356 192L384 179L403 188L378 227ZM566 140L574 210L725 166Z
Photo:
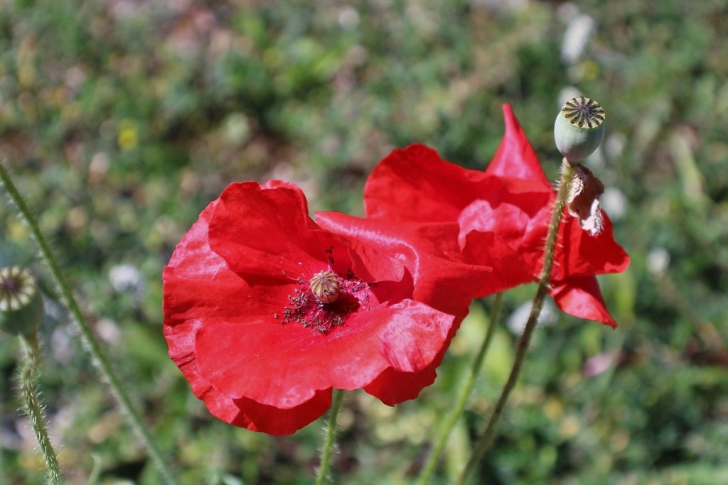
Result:
M31 272L20 266L0 268L0 329L31 335L43 316L43 297Z

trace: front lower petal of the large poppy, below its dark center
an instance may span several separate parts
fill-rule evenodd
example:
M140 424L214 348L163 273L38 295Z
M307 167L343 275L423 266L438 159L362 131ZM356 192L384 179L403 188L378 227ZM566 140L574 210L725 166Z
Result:
M432 362L454 317L412 300L360 308L321 335L297 323L209 322L195 340L200 372L221 393L290 408L318 390L356 389L384 369L416 372Z

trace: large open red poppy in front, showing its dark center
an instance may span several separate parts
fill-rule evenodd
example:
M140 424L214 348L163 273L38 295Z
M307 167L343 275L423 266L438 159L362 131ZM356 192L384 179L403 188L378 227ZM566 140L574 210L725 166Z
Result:
M317 218L294 185L235 183L165 268L170 356L221 420L286 434L332 388L415 397L483 291L489 268L464 261L455 224Z

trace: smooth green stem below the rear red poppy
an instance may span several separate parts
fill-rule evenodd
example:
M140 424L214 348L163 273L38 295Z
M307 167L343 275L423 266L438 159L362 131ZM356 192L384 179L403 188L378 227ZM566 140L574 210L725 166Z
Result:
M463 409L465 409L465 404L467 404L467 398L470 397L472 388L475 385L475 379L478 377L478 374L480 374L480 369L483 367L483 360L485 359L488 348L490 347L491 341L493 340L496 324L498 323L498 320L500 318L502 304L503 293L496 294L495 301L493 302L491 318L488 322L488 330L486 331L486 337L483 340L483 345L480 346L480 350L478 350L478 355L475 356L475 360L472 361L470 374L468 374L462 388L460 388L460 393L457 397L454 409L452 409L450 414L448 414L448 417L446 418L445 422L443 422L443 425L440 428L440 433L438 434L438 438L435 441L435 446L432 447L432 452L430 453L430 457L427 458L427 463L425 463L424 468L422 469L422 473L419 476L417 485L425 485L428 481L430 481L430 478L432 478L432 473L435 472L435 467L438 465L440 454L442 454L443 449L445 448L448 437L450 436L450 433L454 428L457 420L459 420L460 416L462 416Z

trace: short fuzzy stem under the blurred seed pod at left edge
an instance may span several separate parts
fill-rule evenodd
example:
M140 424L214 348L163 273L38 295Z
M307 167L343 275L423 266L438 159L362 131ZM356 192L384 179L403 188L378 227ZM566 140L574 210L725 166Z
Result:
M23 398L23 408L28 420L31 422L33 433L36 435L36 441L43 459L46 463L46 483L49 485L58 485L60 481L60 465L58 465L58 457L55 449L48 437L48 428L43 419L43 409L41 408L38 388L36 387L36 378L39 374L40 349L38 346L38 335L18 334L20 337L20 346L23 349L23 361L20 364L19 380L20 380L20 396Z

